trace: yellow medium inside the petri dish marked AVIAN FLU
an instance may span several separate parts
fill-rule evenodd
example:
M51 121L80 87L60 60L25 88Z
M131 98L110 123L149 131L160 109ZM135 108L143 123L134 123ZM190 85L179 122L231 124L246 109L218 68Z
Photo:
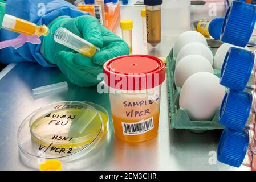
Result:
M60 148L79 148L108 131L108 115L91 109L63 109L42 115L30 125L36 144ZM102 127L102 128L101 128ZM103 130L103 133L100 131Z

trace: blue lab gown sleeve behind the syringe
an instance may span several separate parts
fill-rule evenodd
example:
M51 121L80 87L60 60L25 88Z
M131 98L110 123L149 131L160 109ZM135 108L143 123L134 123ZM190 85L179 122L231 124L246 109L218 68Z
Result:
M64 0L7 0L6 14L29 20L35 24L49 24L59 16L88 15L88 13L78 10L74 5ZM14 39L19 34L7 30L0 30L0 41ZM40 38L43 42L43 36ZM0 61L2 63L21 63L25 61L38 62L44 67L54 67L44 59L40 53L41 44L24 44L21 48L14 49L8 47L0 50ZM49 47L50 48L50 47Z

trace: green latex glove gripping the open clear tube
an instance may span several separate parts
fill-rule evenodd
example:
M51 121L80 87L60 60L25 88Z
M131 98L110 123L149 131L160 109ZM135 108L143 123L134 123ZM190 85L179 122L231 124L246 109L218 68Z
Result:
M77 53L54 41L53 35L43 39L42 51L46 60L58 65L60 70L76 85L89 87L97 85L97 75L103 72L103 64L113 57L128 55L129 47L119 36L101 26L92 16L77 18L60 17L49 26L54 33L59 27L86 39L100 48L93 57Z

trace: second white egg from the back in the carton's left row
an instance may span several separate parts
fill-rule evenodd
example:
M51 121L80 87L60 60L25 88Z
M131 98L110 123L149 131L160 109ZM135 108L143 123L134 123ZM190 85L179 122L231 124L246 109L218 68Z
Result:
M176 65L183 57L188 55L203 56L209 60L211 65L213 65L213 53L208 46L205 46L205 44L202 44L200 42L192 42L186 44L184 47L181 48L180 52L178 53Z

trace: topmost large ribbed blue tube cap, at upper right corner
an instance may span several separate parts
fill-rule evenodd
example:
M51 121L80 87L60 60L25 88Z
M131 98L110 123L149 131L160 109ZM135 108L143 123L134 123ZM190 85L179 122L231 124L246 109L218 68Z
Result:
M256 7L233 1L227 10L221 30L221 40L235 46L245 47L255 26Z

